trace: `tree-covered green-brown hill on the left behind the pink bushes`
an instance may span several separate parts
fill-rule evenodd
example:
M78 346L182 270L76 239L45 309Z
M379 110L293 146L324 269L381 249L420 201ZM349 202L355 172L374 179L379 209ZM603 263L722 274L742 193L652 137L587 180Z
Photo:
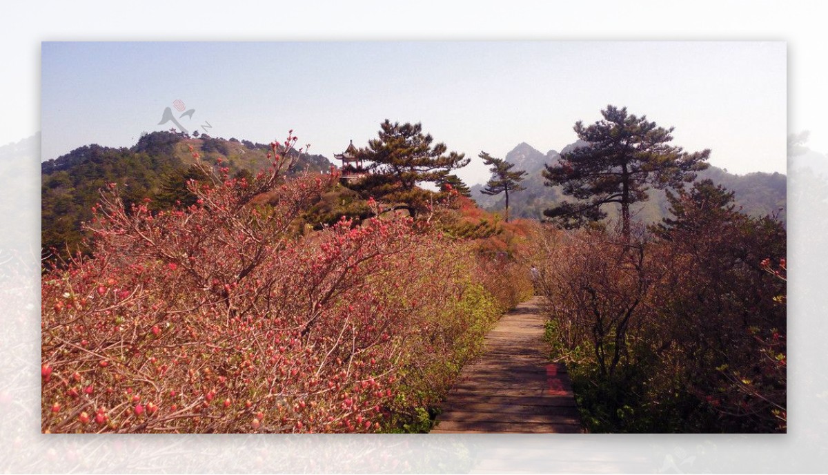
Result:
M192 151L190 151L192 147ZM99 189L108 182L122 186L127 204L149 197L151 207L161 209L185 202L185 183L199 177L192 167L193 152L201 162L229 167L231 176L255 174L270 165L270 145L236 138L184 133L146 133L131 148L84 145L70 153L41 163L41 247L44 250L74 250L85 237L80 226L92 217ZM327 172L331 162L321 155L301 154L289 175Z

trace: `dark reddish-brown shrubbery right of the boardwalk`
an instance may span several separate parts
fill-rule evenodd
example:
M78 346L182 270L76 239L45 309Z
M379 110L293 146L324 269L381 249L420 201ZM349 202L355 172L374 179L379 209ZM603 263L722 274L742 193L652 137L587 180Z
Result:
M537 241L554 353L595 432L786 430L785 231L710 182L675 219Z

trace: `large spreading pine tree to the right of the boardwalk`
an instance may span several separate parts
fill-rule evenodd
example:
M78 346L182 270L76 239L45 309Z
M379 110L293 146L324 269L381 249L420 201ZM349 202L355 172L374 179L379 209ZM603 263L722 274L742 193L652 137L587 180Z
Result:
M647 117L627 114L612 105L602 110L603 120L585 126L575 123L575 133L587 144L546 165L546 186L563 186L563 193L578 201L564 201L544 211L557 221L597 221L606 216L600 207L621 206L623 236L630 236L630 206L647 200L650 187L681 188L708 167L710 150L686 153L672 146L673 128L662 128Z

